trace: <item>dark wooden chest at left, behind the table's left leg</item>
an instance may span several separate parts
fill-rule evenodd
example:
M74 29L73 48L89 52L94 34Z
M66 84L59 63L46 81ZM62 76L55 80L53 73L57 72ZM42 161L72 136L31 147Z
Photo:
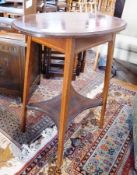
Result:
M33 43L30 92L40 81L39 45ZM0 93L22 97L26 42L19 34L0 33Z

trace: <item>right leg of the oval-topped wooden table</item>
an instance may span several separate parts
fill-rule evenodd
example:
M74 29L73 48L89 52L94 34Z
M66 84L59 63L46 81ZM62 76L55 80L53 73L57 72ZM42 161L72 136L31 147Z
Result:
M106 63L104 89L103 89L103 106L101 109L101 117L100 117L100 128L102 128L104 125L104 115L106 112L107 96L108 96L108 90L109 90L109 82L110 82L113 52L114 52L114 44L115 44L115 34L113 34L112 40L108 42L107 63Z

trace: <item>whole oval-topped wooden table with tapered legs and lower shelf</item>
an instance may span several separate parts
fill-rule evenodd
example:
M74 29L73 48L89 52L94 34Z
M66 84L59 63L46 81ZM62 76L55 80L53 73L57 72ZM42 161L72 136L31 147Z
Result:
M28 35L21 118L22 131L25 131L26 125L30 69L33 62L31 57L32 41L65 54L62 95L45 102L31 104L31 108L47 113L58 126L58 168L62 165L66 127L77 114L87 108L103 105L100 118L100 126L103 126L115 35L123 30L125 26L126 23L118 18L100 14L95 16L91 13L72 12L28 15L13 23L15 29ZM91 100L79 95L71 85L74 57L81 51L105 42L108 42L108 56L103 96L100 99Z

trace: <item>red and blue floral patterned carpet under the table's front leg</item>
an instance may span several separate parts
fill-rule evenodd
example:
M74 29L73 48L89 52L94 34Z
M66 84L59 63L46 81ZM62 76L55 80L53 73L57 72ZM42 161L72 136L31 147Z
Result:
M98 128L100 108L79 115L69 127L63 175L133 175L131 99L135 92L115 83L111 83L110 89L103 130ZM48 168L55 159L56 144L54 139L42 152L40 166L30 165L30 174L48 174Z

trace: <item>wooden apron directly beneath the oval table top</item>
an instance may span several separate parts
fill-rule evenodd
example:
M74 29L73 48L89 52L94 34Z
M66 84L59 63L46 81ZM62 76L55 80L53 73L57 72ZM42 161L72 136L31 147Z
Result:
M109 42L112 40L113 33L106 35L92 36L88 38L70 38L75 42L75 54L84 51L86 49L98 46L100 44ZM43 44L49 48L55 49L62 53L66 52L67 38L38 38L32 37L32 41Z

